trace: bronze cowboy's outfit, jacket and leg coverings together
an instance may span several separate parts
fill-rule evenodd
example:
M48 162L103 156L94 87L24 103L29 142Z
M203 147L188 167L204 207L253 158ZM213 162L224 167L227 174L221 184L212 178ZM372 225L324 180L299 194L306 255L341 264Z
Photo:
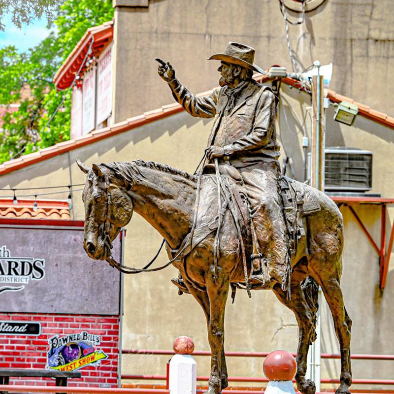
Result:
M275 95L270 88L254 80L243 82L230 92L227 86L216 89L205 97L193 95L177 79L168 84L174 98L191 115L215 117L208 146L223 147L226 156L222 160L239 169L259 239L258 243L253 241L253 254L263 255L267 283L273 283L272 279L282 283L287 278L289 265L279 197ZM204 164L208 164L207 161Z

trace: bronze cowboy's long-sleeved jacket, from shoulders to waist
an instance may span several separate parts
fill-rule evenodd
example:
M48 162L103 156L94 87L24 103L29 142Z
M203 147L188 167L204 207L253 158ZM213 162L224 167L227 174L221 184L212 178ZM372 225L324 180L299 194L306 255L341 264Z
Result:
M223 147L227 155L225 160L230 159L233 166L243 167L278 158L275 130L277 99L269 87L251 80L230 92L225 86L215 89L209 96L197 97L177 79L168 85L173 97L192 116L215 118L208 146ZM231 92L236 97L229 106Z

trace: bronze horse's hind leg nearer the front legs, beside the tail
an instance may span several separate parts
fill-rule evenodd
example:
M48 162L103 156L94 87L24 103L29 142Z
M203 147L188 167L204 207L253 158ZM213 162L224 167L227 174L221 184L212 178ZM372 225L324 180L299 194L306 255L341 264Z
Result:
M316 282L307 277L301 286L301 281L307 273L302 270L301 263L296 266L291 280L291 299L287 298L280 285L275 285L273 291L278 299L293 311L299 327L299 338L297 348L297 389L302 394L314 394L316 391L315 383L310 379L305 379L306 358L309 345L316 339L316 313L318 309Z

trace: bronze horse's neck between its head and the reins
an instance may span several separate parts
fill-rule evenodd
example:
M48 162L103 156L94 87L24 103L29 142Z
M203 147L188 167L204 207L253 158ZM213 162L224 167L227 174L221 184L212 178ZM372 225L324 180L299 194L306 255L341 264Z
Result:
M180 245L192 227L196 184L181 174L138 166L129 191L134 211L166 239L172 248Z

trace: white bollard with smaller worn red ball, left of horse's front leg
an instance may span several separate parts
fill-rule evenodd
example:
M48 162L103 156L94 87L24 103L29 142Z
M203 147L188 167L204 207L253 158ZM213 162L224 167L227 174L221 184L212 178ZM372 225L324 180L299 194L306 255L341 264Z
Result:
M168 389L170 394L196 394L197 362L191 356L194 343L188 336L174 341L175 355L169 361Z

